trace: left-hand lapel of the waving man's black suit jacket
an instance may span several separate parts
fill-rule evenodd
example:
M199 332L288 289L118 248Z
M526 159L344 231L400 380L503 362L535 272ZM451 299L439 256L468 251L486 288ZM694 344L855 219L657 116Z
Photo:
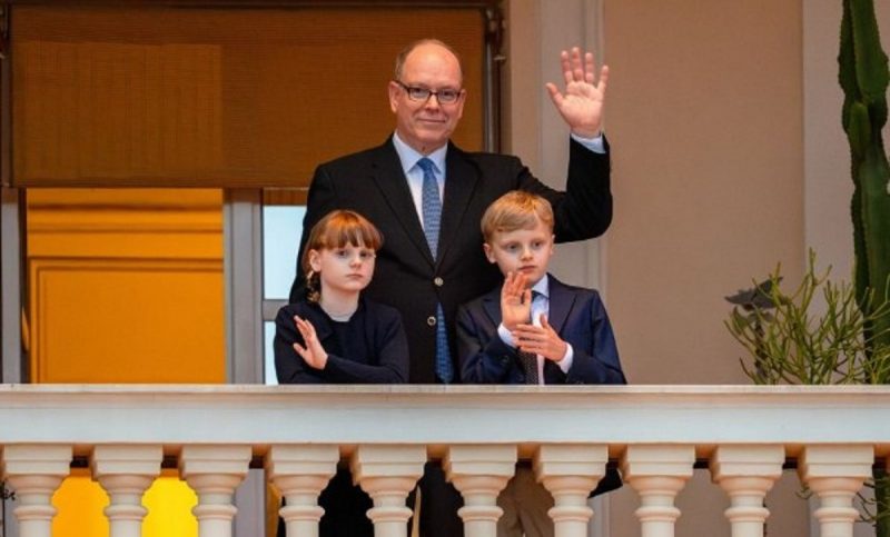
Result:
M429 245L426 243L421 219L417 218L417 208L411 197L408 180L402 170L402 161L393 146L392 137L377 151L373 167L372 177L377 183L377 188L380 189L383 198L389 205L393 215L405 229L411 241L432 266L434 263L433 253L429 251ZM442 250L441 247L439 250Z

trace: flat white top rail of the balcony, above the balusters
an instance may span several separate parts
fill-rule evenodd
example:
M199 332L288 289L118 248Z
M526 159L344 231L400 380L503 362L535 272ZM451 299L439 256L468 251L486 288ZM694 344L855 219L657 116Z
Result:
M0 444L868 444L890 386L0 385ZM167 448L165 448L167 449Z

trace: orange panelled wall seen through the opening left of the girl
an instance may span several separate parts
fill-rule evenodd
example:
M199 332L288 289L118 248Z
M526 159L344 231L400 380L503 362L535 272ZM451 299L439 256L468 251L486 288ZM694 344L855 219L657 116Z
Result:
M221 203L218 190L29 190L32 381L225 382ZM157 479L142 535L197 535L195 504L175 474ZM53 505L53 535L108 535L88 470Z

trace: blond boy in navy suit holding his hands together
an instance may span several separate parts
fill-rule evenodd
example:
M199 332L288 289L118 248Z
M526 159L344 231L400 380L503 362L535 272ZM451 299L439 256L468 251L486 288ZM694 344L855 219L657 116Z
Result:
M461 380L477 384L626 384L600 295L547 274L553 256L547 200L515 190L482 217L485 255L504 282L457 310ZM621 486L610 469L592 494ZM497 498L498 537L553 537L553 498L520 465Z

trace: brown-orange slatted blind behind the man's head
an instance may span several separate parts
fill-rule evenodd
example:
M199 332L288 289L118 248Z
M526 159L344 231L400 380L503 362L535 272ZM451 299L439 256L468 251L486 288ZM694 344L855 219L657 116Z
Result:
M305 187L393 130L393 61L423 37L462 56L455 140L481 149L479 8L13 6L12 182Z

